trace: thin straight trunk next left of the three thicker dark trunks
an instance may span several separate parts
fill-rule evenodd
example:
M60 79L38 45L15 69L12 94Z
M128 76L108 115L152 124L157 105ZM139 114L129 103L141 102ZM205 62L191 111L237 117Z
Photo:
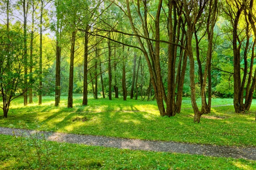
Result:
M42 24L43 24L43 7L44 3L43 0L41 0L41 8L40 8L40 45L39 45L39 90L38 90L38 105L42 104L42 40L43 40L43 29L42 29Z

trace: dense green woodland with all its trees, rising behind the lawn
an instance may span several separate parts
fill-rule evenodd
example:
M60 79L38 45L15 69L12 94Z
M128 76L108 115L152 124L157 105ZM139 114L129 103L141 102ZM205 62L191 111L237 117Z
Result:
M254 0L1 0L0 95L156 100L162 116L190 97L199 122L211 98L255 97ZM197 101L202 107L198 108Z

